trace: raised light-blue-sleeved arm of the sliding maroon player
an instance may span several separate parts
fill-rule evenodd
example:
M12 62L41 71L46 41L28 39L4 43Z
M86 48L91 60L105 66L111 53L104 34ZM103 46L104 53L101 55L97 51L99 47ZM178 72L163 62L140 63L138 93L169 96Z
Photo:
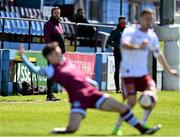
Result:
M24 55L23 47L19 48L19 55L21 56L22 62L27 66L27 68L34 73L37 73L39 75L51 78L54 74L54 70L51 66L48 66L47 68L41 68L40 66L35 66L33 63L31 63L27 57Z

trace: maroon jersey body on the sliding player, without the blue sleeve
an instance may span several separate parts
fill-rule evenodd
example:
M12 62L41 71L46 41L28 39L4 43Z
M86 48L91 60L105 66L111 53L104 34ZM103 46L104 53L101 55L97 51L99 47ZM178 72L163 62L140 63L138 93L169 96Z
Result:
M96 87L86 81L85 75L70 62L65 61L63 64L53 67L54 75L52 78L66 89L70 102L84 100L94 93L102 95Z

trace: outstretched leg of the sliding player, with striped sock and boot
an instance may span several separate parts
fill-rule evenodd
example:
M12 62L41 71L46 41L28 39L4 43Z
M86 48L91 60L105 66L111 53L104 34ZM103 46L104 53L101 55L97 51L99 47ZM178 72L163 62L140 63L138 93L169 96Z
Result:
M113 98L106 98L101 100L102 103L99 106L99 109L104 110L104 111L111 111L111 112L117 112L121 115L124 121L126 121L129 125L135 127L137 130L139 130L142 134L153 134L156 131L160 129L159 126L155 128L144 128L137 118L133 115L131 110L129 109L128 106L119 103Z

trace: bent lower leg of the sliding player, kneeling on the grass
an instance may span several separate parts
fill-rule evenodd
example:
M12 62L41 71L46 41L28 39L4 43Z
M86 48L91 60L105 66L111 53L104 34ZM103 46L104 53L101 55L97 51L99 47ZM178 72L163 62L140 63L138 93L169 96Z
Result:
M52 134L68 134L76 132L83 120L84 116L81 113L71 113L69 118L69 124L65 128L54 128Z

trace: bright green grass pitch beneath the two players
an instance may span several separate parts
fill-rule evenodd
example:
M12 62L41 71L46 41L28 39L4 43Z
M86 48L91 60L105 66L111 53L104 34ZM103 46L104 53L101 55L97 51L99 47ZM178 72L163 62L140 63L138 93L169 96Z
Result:
M110 94L121 100L119 94ZM0 96L0 136L40 135L48 136L54 127L64 127L68 123L70 105L66 93L56 95L60 102L45 102L44 95L36 96ZM162 129L155 135L180 135L180 92L159 92L158 104L148 124L162 124ZM143 115L139 105L133 110L141 120ZM117 114L97 110L88 110L75 136L108 136L117 119ZM123 123L124 135L140 135L134 128ZM69 136L69 135L68 135Z

